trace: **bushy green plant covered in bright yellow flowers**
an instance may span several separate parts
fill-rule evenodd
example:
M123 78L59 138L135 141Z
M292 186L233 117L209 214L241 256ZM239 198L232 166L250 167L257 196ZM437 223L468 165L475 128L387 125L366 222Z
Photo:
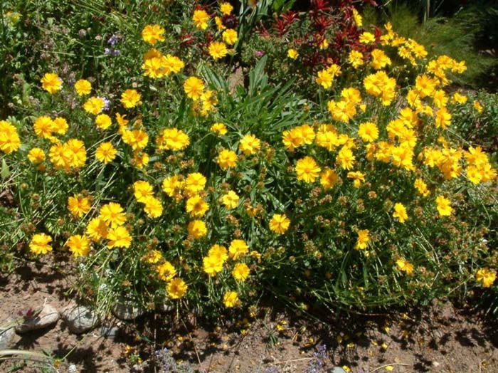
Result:
M200 47L163 48L176 26L144 26L142 75L113 100L85 76L70 86L43 75L41 110L0 122L16 196L2 214L19 227L6 241L33 258L70 253L81 294L102 308L124 297L219 311L263 292L304 309L365 308L495 287L490 225L468 211L490 204L496 221L486 199L497 172L452 130L467 96L447 87L465 62L426 61L389 24L360 32L348 6L357 38L307 70L317 97L269 83L279 78L267 56L233 87L232 11L191 9L185 27L204 33ZM313 58L302 48L290 65ZM395 53L409 67L391 68ZM396 79L403 69L415 79Z

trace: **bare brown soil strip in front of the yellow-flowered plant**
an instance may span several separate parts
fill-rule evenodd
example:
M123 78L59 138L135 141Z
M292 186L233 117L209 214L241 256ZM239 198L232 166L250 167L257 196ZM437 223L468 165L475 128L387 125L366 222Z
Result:
M59 310L68 305L74 297L71 277L58 268L64 263L33 264L0 275L0 325L44 302ZM51 360L58 372L72 373L318 373L334 366L353 373L498 372L494 317L447 301L377 315L339 312L327 322L267 306L255 318L247 312L230 318L208 325L176 312L151 312L134 323L108 320L115 327L112 337L102 336L100 327L74 335L59 320L53 327L16 335L13 348L50 355L59 359ZM154 352L164 347L186 370L161 371ZM10 357L0 359L0 372L51 370Z

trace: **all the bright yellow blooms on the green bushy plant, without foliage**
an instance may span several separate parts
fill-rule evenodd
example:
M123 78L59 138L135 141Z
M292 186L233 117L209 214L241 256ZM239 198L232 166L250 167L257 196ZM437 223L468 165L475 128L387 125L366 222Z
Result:
M223 15L230 15L233 7L228 3L220 6ZM210 16L206 11L197 9L193 15L194 25L198 30L208 28ZM361 16L354 14L355 22L361 26ZM228 46L233 46L238 41L237 31L227 29L223 26L220 17L215 18L218 31L221 33L223 42L213 41L208 46L208 52L215 60L227 55ZM390 24L386 25L386 34L380 37L382 46L397 48L398 55L406 58L411 64L418 65L420 60L427 56L423 46L411 39L405 39L393 32ZM154 24L146 26L142 31L143 40L152 47L158 42L164 41L165 30ZM364 32L360 37L361 43L376 43L372 33ZM297 52L288 51L290 58L297 58ZM367 105L374 105L380 100L381 105L391 105L396 99L396 79L391 78L383 68L391 65L391 59L381 49L373 49L369 56L364 56L360 51L351 51L347 56L347 63L353 68L375 70L366 75L363 87L348 87L341 90L339 98L329 100L327 109L332 120L339 122L336 126L332 124L314 123L303 124L282 132L282 144L288 152L296 150L309 151L308 154L297 159L295 162L295 175L298 182L313 184L319 182L319 188L327 191L339 184L341 177L349 179L354 188L363 187L368 180L366 169L361 169L362 164L368 164L369 170L375 169L378 162L390 164L394 169L402 169L407 179L414 179L413 188L419 196L427 198L435 211L438 211L440 219L451 216L453 213L452 201L443 193L434 193L423 179L423 175L430 171L439 171L445 179L460 177L464 171L463 160L465 159L465 176L470 182L490 182L497 177L496 169L492 168L487 154L480 147L469 147L468 150L454 149L447 144L444 133L451 125L451 105L462 105L467 97L455 93L448 97L443 88L450 80L447 71L462 73L465 71L465 62L457 62L447 56L440 56L437 60L429 61L420 75L415 79L415 85L408 90L404 100L405 103L398 110L396 117L385 126L376 124L376 117L369 120L359 120L357 127L354 119L359 113L366 112ZM179 73L184 68L184 62L176 56L162 54L156 48L151 48L144 55L142 64L143 75L150 79L168 77ZM341 67L336 64L318 72L316 83L324 89L332 88L334 78L341 74ZM43 89L50 94L55 94L62 89L63 82L54 73L47 73L41 80ZM90 81L80 79L75 83L75 92L78 96L88 96L92 93ZM192 107L195 113L206 116L216 108L216 92L206 89L203 80L196 76L190 76L183 82L184 94L193 100ZM362 91L364 90L364 95ZM371 97L370 97L371 96ZM122 92L120 103L125 110L141 105L142 95L135 89L127 89ZM83 99L82 99L83 102ZM479 103L475 103L475 110L482 110ZM83 110L95 116L95 127L97 131L109 130L113 125L110 115L103 113L107 108L105 98L92 96L83 103ZM129 127L127 115L116 112L117 134L122 142L130 147L133 152L132 164L137 169L144 168L149 162L149 154L145 152L149 145L149 135L137 118ZM346 126L344 126L346 124ZM348 128L349 133L341 133L337 128ZM421 132L430 127L431 130L441 133L437 144L421 147L418 154L415 152L416 145L423 141ZM33 122L33 132L37 137L48 140L48 158L54 169L63 169L70 172L71 169L79 169L85 166L87 150L82 140L71 138L65 142L58 136L68 132L69 124L63 117L49 117L46 115L37 117ZM353 130L351 130L353 129ZM216 135L226 135L228 129L221 122L211 126L211 131ZM356 132L356 133L355 133ZM176 127L166 127L159 130L155 137L157 152L180 152L191 145L189 135ZM21 147L21 141L16 127L11 123L0 121L0 150L6 154L14 152ZM48 147L48 146L47 146ZM238 137L238 149L235 147L217 149L216 158L213 159L221 170L228 170L238 165L240 159L245 157L258 157L262 149L267 147L258 137L251 133L240 134ZM329 157L319 164L314 148L329 152ZM100 142L95 149L95 158L103 164L109 164L121 154L112 142ZM361 162L364 157L368 162ZM46 151L41 147L33 147L28 151L28 159L38 165L43 171L46 160ZM332 165L331 165L332 164ZM425 171L425 172L424 172ZM143 172L143 175L147 175ZM200 172L173 173L164 177L161 189L169 199L176 203L184 201L184 209L188 216L186 231L188 239L198 240L208 235L206 214L211 209L208 190L206 189L206 176ZM411 182L410 182L411 183ZM154 193L154 186L145 180L138 180L132 185L134 198L139 204L143 204L144 212L150 219L158 219L164 214L163 199ZM434 194L434 196L431 196ZM239 196L229 187L224 188L223 195L218 201L224 209L233 210L240 206ZM95 206L92 206L92 197L88 194L75 194L68 198L68 211L76 220L84 219ZM183 205L182 205L183 206ZM407 205L408 206L408 205ZM396 224L406 224L410 221L411 209L407 209L400 201L391 205L389 215ZM410 206L408 206L410 208ZM246 211L249 211L246 210ZM249 212L248 212L249 214ZM291 226L291 220L286 214L272 214L268 222L268 228L277 235L285 234ZM98 215L88 221L84 234L70 236L65 246L74 256L87 256L93 244L105 240L108 249L129 248L132 245L132 234L127 224L127 214L123 206L116 202L108 202L100 206ZM292 229L291 229L292 231ZM365 252L366 248L375 242L375 236L370 235L369 229L356 229L356 244L354 249ZM35 254L46 254L52 250L52 238L45 233L36 233L31 238L30 250ZM231 271L236 283L245 282L255 266L248 266L250 258L260 261L261 253L250 251L246 241L239 236L231 240L228 249L221 244L213 244L206 256L202 258L202 270L208 278L213 278L224 269ZM166 283L166 292L171 299L180 299L186 295L188 285L178 276L176 268L163 257L157 250L149 250L144 256L144 261L149 263L157 278ZM414 266L406 259L395 257L396 267L401 272L410 275ZM476 279L484 287L494 283L496 271L482 268L477 271ZM227 308L233 308L240 304L238 293L232 290L223 295L223 303Z

